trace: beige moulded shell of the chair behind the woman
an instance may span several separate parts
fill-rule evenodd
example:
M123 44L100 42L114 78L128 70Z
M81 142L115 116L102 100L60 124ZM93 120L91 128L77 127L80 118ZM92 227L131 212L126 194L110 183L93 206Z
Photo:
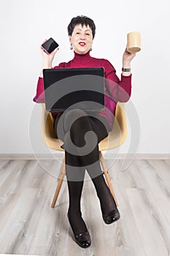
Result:
M117 148L125 141L127 135L127 124L125 116L125 103L118 102L115 112L113 129L109 135L98 144L99 151ZM48 148L57 151L64 151L61 148L61 140L54 138L53 116L45 110L45 103L42 103L42 140Z

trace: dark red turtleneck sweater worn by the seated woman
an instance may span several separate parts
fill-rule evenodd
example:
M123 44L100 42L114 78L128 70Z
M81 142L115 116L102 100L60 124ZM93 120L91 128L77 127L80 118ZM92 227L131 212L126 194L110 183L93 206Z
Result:
M62 62L54 69L72 68L72 67L104 67L104 110L98 112L98 115L104 116L109 124L109 130L112 130L114 121L115 108L117 102L127 102L131 96L131 75L121 75L121 80L117 77L115 68L107 59L96 59L90 56L90 52L85 55L74 53L74 59L69 62ZM36 88L36 96L34 102L44 103L44 81L39 78ZM61 113L53 113L58 116Z

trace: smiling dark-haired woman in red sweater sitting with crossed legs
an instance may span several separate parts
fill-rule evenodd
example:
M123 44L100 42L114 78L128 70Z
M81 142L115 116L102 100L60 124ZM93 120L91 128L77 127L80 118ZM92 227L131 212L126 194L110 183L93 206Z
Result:
M104 67L104 77L106 78L104 110L93 115L89 115L89 113L85 113L84 110L80 109L73 109L64 113L53 113L55 135L57 138L63 140L63 148L65 148L66 154L66 178L69 189L69 210L67 216L74 233L75 241L83 248L87 248L91 244L88 227L82 219L80 209L85 170L88 171L96 188L104 222L111 224L120 219L120 213L115 200L102 174L98 155L98 143L106 138L108 132L112 129L116 102L127 102L131 96L131 60L135 56L135 53L128 53L125 50L123 53L123 72L121 79L119 79L115 73L115 68L109 61L90 56L95 30L96 26L90 18L85 16L72 18L68 26L68 34L71 44L70 49L74 49L74 59L54 67ZM57 51L58 48L53 50L50 55L47 55L41 48L43 56L42 69L52 68L53 59ZM42 72L38 80L34 101L45 102ZM69 127L70 123L72 123L71 127ZM94 137L93 140L89 139L91 137L85 140L85 135L89 135L88 132L95 132L97 136L96 144ZM77 154L67 150L71 141L77 149ZM93 148L90 153L88 151L86 154L79 154L79 148L81 149L88 143Z

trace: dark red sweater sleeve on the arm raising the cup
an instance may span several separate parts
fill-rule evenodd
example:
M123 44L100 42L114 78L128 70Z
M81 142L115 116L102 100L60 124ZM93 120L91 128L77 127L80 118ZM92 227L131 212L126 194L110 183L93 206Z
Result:
M115 102L127 102L131 97L131 75L121 75L119 79L112 64L106 60L105 83L110 96Z

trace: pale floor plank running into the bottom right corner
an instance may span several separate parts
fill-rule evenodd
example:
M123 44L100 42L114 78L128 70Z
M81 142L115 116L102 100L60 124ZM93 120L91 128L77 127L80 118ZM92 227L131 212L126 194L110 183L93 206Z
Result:
M155 221L147 192L144 189L126 189L126 192L131 203L131 208L133 208L134 219L146 255L169 256L169 248L166 248L166 244L163 241L159 222Z

